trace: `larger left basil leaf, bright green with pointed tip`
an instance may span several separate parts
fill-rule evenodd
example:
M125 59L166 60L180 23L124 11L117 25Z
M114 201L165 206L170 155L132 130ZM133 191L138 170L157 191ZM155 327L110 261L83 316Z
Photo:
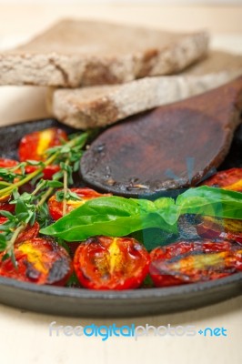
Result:
M174 204L172 199L170 204ZM77 207L52 226L45 227L41 233L64 238L66 241L79 241L96 235L124 237L148 227L176 232L176 224L167 224L162 212L156 213L156 207L151 201L98 197Z

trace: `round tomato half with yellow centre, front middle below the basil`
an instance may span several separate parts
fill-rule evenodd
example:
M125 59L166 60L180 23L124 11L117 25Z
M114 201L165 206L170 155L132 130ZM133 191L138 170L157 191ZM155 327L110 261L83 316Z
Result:
M149 254L134 238L89 238L74 257L76 276L85 288L130 289L146 278Z

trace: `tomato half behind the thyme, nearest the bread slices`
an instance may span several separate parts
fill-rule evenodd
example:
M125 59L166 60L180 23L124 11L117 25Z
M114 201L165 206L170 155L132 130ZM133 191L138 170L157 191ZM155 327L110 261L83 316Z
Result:
M67 140L66 132L56 127L50 127L43 131L35 131L25 135L19 145L19 158L21 162L25 160L45 160L45 151L50 147L60 146L62 140ZM26 173L32 173L37 167L25 167ZM52 176L59 171L59 166L51 165L45 167L44 178L51 179Z

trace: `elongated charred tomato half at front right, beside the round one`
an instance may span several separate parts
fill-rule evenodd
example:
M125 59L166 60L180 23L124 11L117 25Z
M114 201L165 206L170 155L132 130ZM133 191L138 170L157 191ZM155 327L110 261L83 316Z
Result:
M242 271L242 248L227 240L179 241L150 253L156 287L227 277Z

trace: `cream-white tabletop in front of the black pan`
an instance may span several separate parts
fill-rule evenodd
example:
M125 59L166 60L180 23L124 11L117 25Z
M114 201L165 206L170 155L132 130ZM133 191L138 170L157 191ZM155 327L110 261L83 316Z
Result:
M16 298L17 299L17 298ZM140 319L69 319L1 307L3 364L241 364L242 297L208 308ZM140 339L50 337L58 325L196 325L227 328L227 338L153 337Z

